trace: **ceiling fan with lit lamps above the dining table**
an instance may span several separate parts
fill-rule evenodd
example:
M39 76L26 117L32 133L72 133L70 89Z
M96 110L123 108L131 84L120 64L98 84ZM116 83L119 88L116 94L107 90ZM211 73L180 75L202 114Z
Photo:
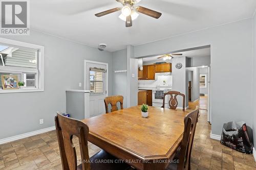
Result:
M95 16L97 17L101 17L107 14L111 14L113 12L117 12L121 10L121 15L119 15L119 18L125 21L125 27L132 27L133 26L133 20L136 19L139 13L151 16L153 18L158 19L162 13L145 8L145 7L141 7L141 6L134 6L135 4L137 4L138 2L140 2L141 0L116 0L117 2L121 3L123 5L122 8L113 8L110 10L106 10L100 13L95 14Z

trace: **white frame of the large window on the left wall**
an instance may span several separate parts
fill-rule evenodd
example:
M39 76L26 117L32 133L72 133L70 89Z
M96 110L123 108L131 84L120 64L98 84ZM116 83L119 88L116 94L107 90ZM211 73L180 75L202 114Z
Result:
M13 66L0 66L0 72L31 72L36 74L35 83L36 87L26 87L24 89L10 89L10 90L0 90L0 93L17 93L17 92L37 92L44 91L44 58L45 58L45 47L41 45L30 44L26 42L15 41L6 38L0 38L0 43L7 45L16 45L21 47L34 48L38 50L37 56L37 68L25 68L25 67L13 67Z

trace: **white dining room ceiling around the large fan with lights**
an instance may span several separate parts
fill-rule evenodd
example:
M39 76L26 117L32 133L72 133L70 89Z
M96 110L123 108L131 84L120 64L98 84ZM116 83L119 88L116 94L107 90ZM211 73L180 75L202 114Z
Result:
M162 13L159 19L143 14L125 28L119 12L95 13L121 4L115 0L33 0L30 1L31 28L89 46L106 43L117 51L127 44L138 45L252 17L255 0L142 0L140 6Z

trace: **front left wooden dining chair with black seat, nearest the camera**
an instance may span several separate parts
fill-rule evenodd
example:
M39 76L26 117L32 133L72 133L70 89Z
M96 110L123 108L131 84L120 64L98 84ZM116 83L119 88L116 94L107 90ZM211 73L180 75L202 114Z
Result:
M55 126L63 170L126 170L131 167L126 163L115 163L117 158L104 150L99 151L89 158L89 128L80 120L63 116L57 112L57 116L55 116ZM81 153L81 160L78 160L81 162L79 165L77 165L76 148L72 141L73 136L77 136L79 139ZM110 163L103 163L103 161L100 160L110 160ZM113 161L113 163L111 161Z

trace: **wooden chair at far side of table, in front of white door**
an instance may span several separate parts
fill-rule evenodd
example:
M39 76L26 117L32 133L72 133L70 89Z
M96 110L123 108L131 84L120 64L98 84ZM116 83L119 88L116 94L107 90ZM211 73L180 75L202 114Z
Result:
M104 99L105 103L105 109L106 113L109 113L109 104L111 105L111 110L110 112L117 111L117 103L120 102L121 109L123 109L123 96L122 95L113 95L113 96L108 96Z

